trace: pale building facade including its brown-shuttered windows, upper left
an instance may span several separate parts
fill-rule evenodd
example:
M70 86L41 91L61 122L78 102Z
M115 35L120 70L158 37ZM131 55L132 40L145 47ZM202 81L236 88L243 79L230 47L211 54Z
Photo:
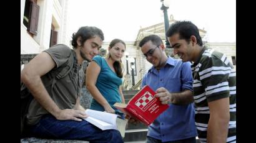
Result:
M21 54L69 45L67 11L67 0L21 0Z

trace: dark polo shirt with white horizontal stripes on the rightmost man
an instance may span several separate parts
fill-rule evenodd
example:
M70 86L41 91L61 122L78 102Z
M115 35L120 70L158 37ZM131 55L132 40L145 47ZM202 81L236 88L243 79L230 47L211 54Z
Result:
M194 76L195 125L200 142L207 142L210 118L208 102L230 99L230 122L227 142L236 142L236 73L232 63L220 52L203 48L192 66Z

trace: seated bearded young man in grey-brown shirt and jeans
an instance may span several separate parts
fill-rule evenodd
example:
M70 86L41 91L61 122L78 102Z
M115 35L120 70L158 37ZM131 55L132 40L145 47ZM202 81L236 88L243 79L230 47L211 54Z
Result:
M31 136L52 139L76 139L90 142L123 142L119 131L102 131L83 120L87 115L80 105L84 72L81 64L99 53L104 35L97 27L81 27L72 35L74 50L66 45L54 45L34 57L21 71L21 81L34 96L27 113ZM64 78L52 78L74 58L72 69ZM49 82L51 86L49 85Z

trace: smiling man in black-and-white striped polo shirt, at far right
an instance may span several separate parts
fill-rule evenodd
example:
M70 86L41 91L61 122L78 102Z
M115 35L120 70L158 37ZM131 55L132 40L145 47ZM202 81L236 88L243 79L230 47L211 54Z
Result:
M195 124L200 142L236 142L236 76L232 63L223 53L202 44L199 29L192 22L177 21L166 35L182 62L194 62Z

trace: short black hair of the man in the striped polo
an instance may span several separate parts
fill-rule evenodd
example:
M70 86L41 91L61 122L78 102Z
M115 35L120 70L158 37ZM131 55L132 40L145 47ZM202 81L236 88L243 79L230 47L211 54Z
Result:
M199 29L190 21L177 21L170 25L170 28L166 32L166 36L171 37L174 34L179 34L179 38L185 39L187 42L189 42L190 37L194 35L197 39L197 44L200 46L203 45Z

